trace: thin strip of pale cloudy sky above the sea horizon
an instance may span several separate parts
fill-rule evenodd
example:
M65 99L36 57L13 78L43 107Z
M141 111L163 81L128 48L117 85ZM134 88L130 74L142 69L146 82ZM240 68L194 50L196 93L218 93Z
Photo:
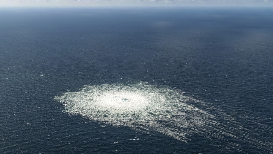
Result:
M0 6L272 6L273 0L0 0Z

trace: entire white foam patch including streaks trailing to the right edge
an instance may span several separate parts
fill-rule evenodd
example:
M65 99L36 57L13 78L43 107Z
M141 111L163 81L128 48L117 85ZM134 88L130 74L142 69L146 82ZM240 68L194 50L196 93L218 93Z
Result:
M236 141L254 149L273 152L269 142L272 138L264 141L259 134L252 133L221 110L186 97L168 86L157 87L146 82L89 85L55 99L64 104L65 112L80 114L92 121L128 126L146 133L156 131L185 142L189 136L198 134L211 140L225 141L225 145L216 146L231 152L243 152ZM200 103L206 111L191 105L191 102ZM209 111L217 113L217 117ZM272 133L272 128L253 119L249 119L248 123L257 126L260 131L269 132L268 136Z

